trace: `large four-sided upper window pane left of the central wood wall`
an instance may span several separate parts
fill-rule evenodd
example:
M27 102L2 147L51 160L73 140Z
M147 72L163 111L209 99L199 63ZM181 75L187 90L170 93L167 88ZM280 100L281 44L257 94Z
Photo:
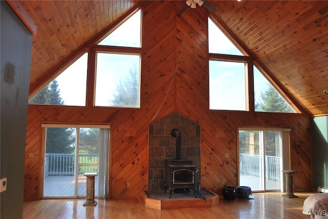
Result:
M140 55L97 53L96 106L139 107Z

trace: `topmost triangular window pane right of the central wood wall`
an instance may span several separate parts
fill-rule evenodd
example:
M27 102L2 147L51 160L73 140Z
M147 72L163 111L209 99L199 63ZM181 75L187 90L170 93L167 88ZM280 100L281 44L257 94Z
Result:
M209 53L240 55L242 53L230 41L230 39L222 33L222 31L209 18Z

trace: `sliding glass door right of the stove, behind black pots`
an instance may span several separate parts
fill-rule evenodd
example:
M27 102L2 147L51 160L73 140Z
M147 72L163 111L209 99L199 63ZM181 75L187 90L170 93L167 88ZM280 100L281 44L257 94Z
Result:
M281 190L282 132L239 130L239 185L253 191Z

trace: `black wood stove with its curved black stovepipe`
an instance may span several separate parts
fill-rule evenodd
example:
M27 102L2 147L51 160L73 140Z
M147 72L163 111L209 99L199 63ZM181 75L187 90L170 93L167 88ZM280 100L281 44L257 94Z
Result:
M169 187L170 196L172 191L176 193L190 192L194 190L196 196L196 165L191 160L181 160L181 134L178 129L172 129L171 134L176 138L175 160L165 161L165 192Z

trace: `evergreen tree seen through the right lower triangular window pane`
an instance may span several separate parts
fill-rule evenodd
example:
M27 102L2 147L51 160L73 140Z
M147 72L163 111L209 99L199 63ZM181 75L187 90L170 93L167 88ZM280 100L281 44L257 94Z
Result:
M255 111L258 112L280 112L294 113L292 107L279 95L273 86L260 94L260 101L255 105Z

